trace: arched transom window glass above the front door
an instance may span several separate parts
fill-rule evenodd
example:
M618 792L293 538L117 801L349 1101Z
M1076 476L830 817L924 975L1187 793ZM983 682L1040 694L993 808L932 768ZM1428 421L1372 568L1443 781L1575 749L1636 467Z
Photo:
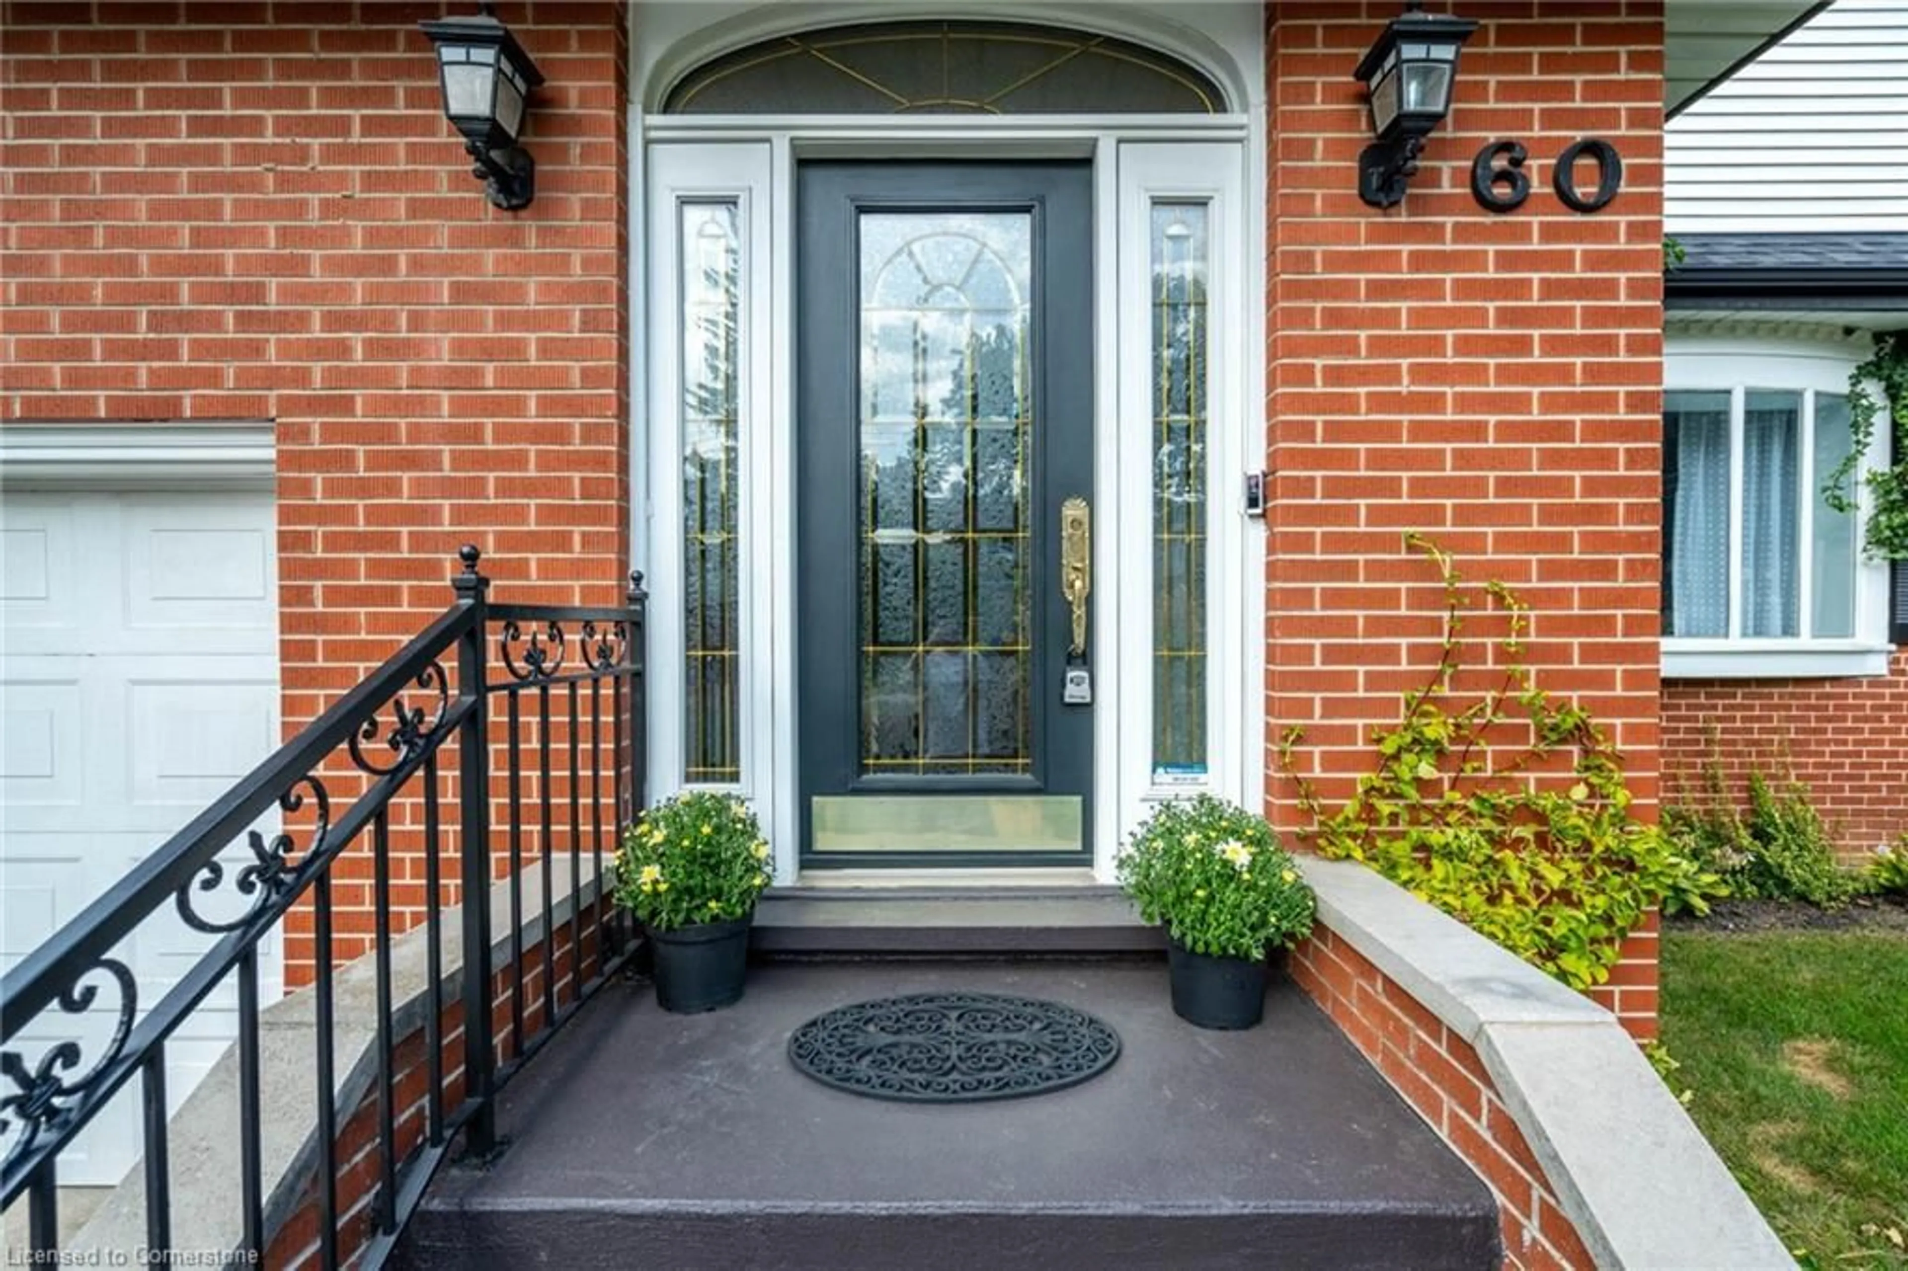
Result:
M1192 67L1030 23L914 21L777 36L689 73L672 115L1219 115Z

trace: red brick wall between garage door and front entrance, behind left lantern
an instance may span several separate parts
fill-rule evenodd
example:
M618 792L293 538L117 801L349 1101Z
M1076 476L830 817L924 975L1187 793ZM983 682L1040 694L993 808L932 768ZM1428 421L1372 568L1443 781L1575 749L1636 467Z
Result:
M624 594L624 6L498 8L548 78L517 214L443 118L418 19L448 10L0 6L0 422L277 422L286 735L450 603L458 544L511 601ZM340 861L340 960L368 878Z

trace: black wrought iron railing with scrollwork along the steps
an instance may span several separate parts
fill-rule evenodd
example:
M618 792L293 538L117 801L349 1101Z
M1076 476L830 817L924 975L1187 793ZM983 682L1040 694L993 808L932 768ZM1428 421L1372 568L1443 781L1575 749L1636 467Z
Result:
M25 1197L36 1265L53 1265L59 1248L61 1153L128 1082L137 1082L143 1134L141 1258L162 1265L174 1185L168 1040L233 981L240 1164L223 1187L240 1206L237 1252L252 1265L265 1260L275 1233L261 1177L259 1013L271 1006L261 1002L261 947L273 933L286 939L286 966L311 977L322 1267L376 1265L452 1141L471 1153L494 1145L498 1088L633 950L603 889L618 834L643 798L641 576L630 576L628 607L504 605L487 595L479 552L464 548L460 559L450 609L0 981L0 1179L6 1208ZM527 886L532 878L540 886ZM359 912L343 931L340 914L355 903L342 906L334 893L357 895L364 884L370 927ZM494 889L508 893L502 933L492 931ZM393 905L395 891L403 905ZM452 910L462 975L446 985ZM126 947L145 924L174 916L206 948L143 1004ZM420 926L427 1078L424 1124L406 1143L391 948ZM492 948L506 950L502 968ZM338 966L353 956L376 960L368 1216L342 1214L349 1197L340 1197L340 1172L351 1162L336 1147L349 1109L338 1105L334 989ZM538 979L530 989L527 973ZM92 1048L80 1023L101 1015L111 1036ZM359 1227L342 1235L347 1219Z

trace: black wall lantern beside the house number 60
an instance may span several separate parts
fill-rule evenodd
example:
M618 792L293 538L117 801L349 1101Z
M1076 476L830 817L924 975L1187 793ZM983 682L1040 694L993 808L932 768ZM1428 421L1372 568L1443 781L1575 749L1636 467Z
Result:
M1358 155L1358 197L1374 208L1404 200L1425 137L1450 113L1458 50L1473 31L1477 23L1425 13L1423 0L1406 0L1404 13L1391 19L1358 63L1355 74L1372 97L1378 137Z

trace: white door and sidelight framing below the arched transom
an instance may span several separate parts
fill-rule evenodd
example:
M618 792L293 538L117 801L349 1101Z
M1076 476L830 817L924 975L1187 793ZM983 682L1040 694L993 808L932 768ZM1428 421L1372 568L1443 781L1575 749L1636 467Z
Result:
M645 183L649 229L643 242L649 260L643 275L649 282L649 403L645 416L654 433L635 429L632 445L643 454L632 456L635 471L649 471L647 517L637 525L637 542L647 559L639 561L651 576L651 592L658 597L651 615L651 666L668 668L653 676L651 687L651 773L649 788L666 796L681 788L681 611L670 597L681 595L681 496L679 496L679 439L677 439L677 361L679 326L675 323L675 208L685 198L733 197L746 208L744 235L744 340L742 340L742 456L740 500L744 555L742 582L742 782L746 794L763 817L775 844L777 882L792 884L798 870L798 767L796 767L796 660L792 634L798 613L794 597L796 559L796 490L792 464L794 427L794 168L798 156L880 153L881 156L946 155L950 143L969 151L985 143L994 156L1057 156L1091 155L1095 160L1095 508L1101 532L1095 534L1091 595L1095 643L1101 649L1101 674L1095 677L1095 842L1093 872L1103 882L1112 880L1120 840L1131 830L1145 805L1168 790L1151 786L1151 719L1149 710L1122 710L1122 702L1145 706L1151 702L1151 641L1122 639L1133 620L1133 597L1122 597L1122 588L1135 590L1139 613L1145 613L1147 592L1143 576L1151 559L1145 517L1122 517L1122 483L1145 483L1151 469L1151 450L1141 429L1135 445L1131 431L1133 384L1122 378L1122 363L1131 365L1133 340L1145 349L1149 296L1131 294L1135 252L1147 250L1143 240L1130 242L1137 223L1122 219L1135 206L1160 193L1189 195L1215 200L1217 225L1213 237L1213 277L1223 281L1215 298L1221 319L1215 328L1215 384L1212 393L1212 443L1208 452L1212 559L1208 582L1208 613L1213 632L1210 651L1210 750L1213 767L1200 788L1255 807L1261 798L1263 771L1263 695L1240 693L1244 685L1263 683L1263 605L1246 603L1263 595L1263 534L1244 521L1238 508L1240 473L1257 468L1263 439L1254 405L1263 401L1263 365L1250 357L1259 345L1263 317L1252 305L1250 279L1257 235L1263 225L1263 202L1254 198L1250 181L1252 145L1244 141L1242 120L1215 120L1206 126L1179 128L1179 151L1196 155L1219 170L1194 174L1185 164L1168 160L1175 147L1141 145L1156 141L1158 134L1141 132L1139 139L1114 120L1097 120L1093 130L1046 126L1038 130L975 128L960 120L965 135L948 120L801 120L798 126L773 126L775 120L750 120L744 132L738 122L723 120L714 130L700 130L685 116L643 120L649 145L649 181ZM717 139L719 137L719 139ZM1192 137L1200 143L1187 145ZM1131 156L1124 149L1141 145ZM1227 162L1231 156L1231 162ZM1131 164L1130 164L1131 160ZM1128 177L1122 166L1133 166ZM1164 166L1162 166L1164 164ZM1139 198L1141 204L1133 200ZM1126 212L1122 212L1126 208ZM1131 250L1126 250L1131 248ZM1263 250L1263 248L1257 248ZM765 267L763 267L765 261ZM1145 286L1143 265L1139 275ZM1124 328L1124 330L1122 330ZM1137 332L1137 336L1135 336ZM1145 387L1137 401L1145 401ZM1122 471L1126 473L1122 477ZM1126 490L1131 494L1131 489ZM1145 500L1141 506L1151 506ZM1126 525L1126 532L1118 527ZM1135 555L1139 553L1139 555ZM1133 569L1137 567L1137 571ZM1143 630L1151 630L1145 624ZM1131 647L1130 647L1131 645ZM1236 670L1234 670L1236 668ZM1131 716L1131 718L1128 718Z

